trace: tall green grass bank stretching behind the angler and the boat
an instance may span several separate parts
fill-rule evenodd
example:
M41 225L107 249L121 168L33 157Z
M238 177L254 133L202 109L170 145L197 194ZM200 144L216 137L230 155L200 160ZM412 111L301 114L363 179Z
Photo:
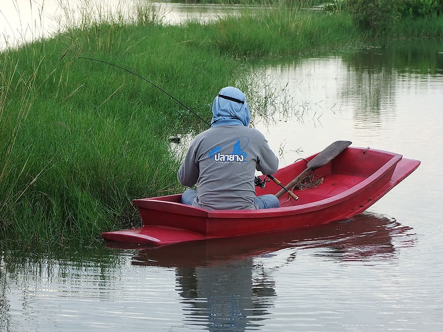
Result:
M308 11L281 2L169 26L149 3L137 3L130 17L84 15L50 39L0 53L3 240L29 247L97 239L138 222L133 198L184 189L170 138L205 124L139 78L79 57L132 70L209 121L224 86L246 91L255 110L272 98L250 75L249 58L355 49L380 34L338 4ZM396 19L390 36L442 37L439 13L432 26L414 13Z

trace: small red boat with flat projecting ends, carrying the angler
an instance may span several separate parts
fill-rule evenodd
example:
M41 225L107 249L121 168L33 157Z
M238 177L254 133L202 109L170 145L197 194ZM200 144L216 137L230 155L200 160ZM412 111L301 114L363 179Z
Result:
M315 156L279 169L275 178L289 183ZM137 199L133 204L140 211L143 226L102 236L113 241L164 245L325 224L365 211L419 164L397 153L349 147L315 170L312 181L321 184L294 190L298 200L288 200L284 194L279 199L280 208L208 211L181 204L181 195ZM256 188L256 193L276 194L280 189L269 182L263 189Z

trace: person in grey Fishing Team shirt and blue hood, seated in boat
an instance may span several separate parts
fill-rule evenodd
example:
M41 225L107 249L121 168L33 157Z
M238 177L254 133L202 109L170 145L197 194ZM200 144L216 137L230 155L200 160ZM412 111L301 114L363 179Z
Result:
M177 178L188 189L182 203L206 210L278 208L274 195L255 195L255 169L277 172L279 160L263 134L249 127L246 95L226 87L214 99L211 128L191 142Z

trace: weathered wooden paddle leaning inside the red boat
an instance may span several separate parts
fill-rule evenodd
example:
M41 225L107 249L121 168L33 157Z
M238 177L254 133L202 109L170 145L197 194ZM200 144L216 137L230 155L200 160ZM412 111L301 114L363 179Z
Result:
M290 190L294 185L296 185L301 179L306 177L309 173L316 170L317 168L320 168L324 165L326 165L328 162L330 162L332 159L334 159L336 156L340 154L343 150L348 148L349 145L351 145L352 142L350 141L337 141L332 143L329 147L318 153L312 160L308 162L306 165L306 169L294 180L290 181L286 186L285 189L280 190L277 194L277 198L280 198L285 192ZM291 196L292 197L292 196ZM297 197L297 196L295 196ZM298 199L298 197L297 197Z

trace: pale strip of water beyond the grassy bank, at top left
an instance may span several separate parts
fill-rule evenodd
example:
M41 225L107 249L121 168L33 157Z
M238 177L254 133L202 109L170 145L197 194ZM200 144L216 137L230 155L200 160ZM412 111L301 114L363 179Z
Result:
M0 50L33 39L47 38L82 17L96 20L135 16L139 0L2 0L0 3ZM141 1L143 3L143 1ZM164 24L199 22L237 15L241 5L150 2ZM255 7L254 7L255 8ZM256 7L260 8L260 7Z

